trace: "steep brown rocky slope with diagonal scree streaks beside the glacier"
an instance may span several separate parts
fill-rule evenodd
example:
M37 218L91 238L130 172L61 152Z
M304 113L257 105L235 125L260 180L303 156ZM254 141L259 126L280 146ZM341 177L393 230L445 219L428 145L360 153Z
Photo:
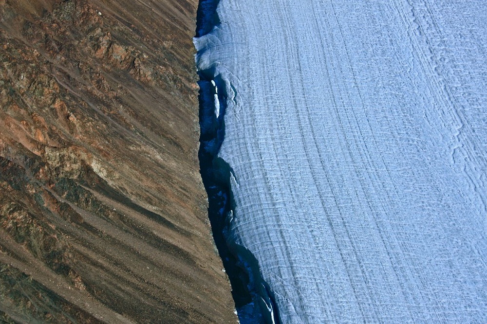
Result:
M231 323L197 1L0 0L0 319Z

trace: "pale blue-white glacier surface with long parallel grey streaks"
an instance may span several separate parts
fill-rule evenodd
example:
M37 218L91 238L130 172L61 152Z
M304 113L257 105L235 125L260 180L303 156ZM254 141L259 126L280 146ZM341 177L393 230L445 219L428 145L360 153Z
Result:
M485 1L217 12L230 233L281 322L487 323Z

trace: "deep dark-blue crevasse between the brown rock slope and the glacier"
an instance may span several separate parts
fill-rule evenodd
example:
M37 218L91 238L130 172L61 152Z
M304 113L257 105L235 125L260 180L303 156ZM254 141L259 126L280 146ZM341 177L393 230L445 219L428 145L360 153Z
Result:
M225 66L214 61L211 49L221 44L219 0L200 1L197 37L193 38L200 77L200 169L208 194L208 216L213 238L232 285L240 323L279 323L274 296L262 279L257 259L233 240L231 223L235 202L231 188L238 186L230 165L218 153L225 137L225 110L236 105L235 88Z

